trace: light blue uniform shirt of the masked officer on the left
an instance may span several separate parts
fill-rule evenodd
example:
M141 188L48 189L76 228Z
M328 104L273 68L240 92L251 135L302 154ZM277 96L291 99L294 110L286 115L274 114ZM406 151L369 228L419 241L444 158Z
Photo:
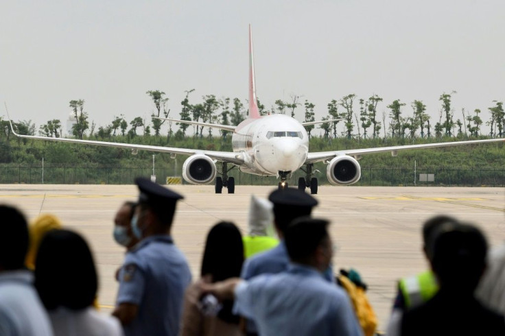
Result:
M178 335L189 283L191 272L186 258L171 237L143 239L126 254L119 272L117 304L139 306L137 317L124 326L125 335Z

